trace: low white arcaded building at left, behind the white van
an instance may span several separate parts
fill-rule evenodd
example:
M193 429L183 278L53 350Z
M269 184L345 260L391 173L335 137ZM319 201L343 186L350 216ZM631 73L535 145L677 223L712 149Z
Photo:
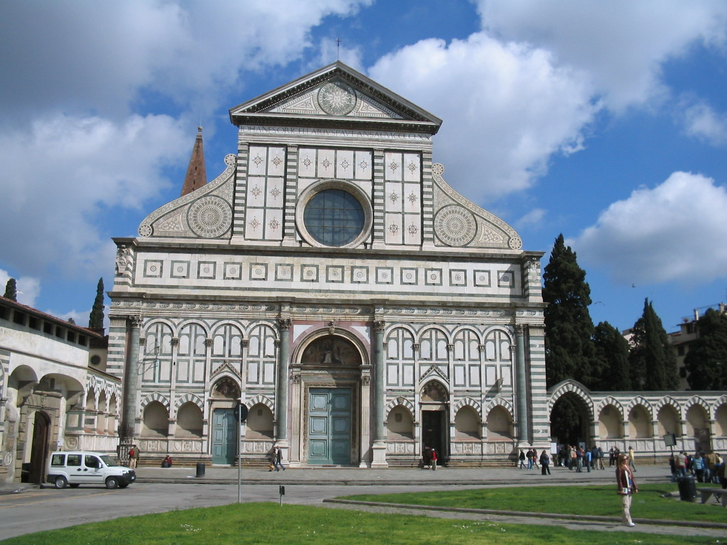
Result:
M116 451L106 355L103 334L0 297L0 482L43 482L56 449Z

